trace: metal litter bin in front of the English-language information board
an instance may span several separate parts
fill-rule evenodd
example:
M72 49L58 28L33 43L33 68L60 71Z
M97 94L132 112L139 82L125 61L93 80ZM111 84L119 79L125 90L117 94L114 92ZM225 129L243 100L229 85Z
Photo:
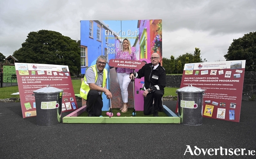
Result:
M178 116L184 125L202 125L203 89L188 85L176 90L178 94Z

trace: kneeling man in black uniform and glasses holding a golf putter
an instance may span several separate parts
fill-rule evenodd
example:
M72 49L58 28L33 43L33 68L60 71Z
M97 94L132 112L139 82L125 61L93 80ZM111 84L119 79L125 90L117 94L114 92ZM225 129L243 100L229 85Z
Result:
M163 111L162 97L166 86L166 73L159 63L159 54L153 53L150 59L151 63L144 65L138 72L131 73L130 78L132 80L134 77L144 77L144 115L158 116L158 111Z

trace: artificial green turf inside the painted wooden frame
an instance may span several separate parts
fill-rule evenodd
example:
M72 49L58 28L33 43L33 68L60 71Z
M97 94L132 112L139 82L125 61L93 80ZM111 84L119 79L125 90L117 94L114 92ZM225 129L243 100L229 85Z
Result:
M118 117L116 114L119 112L121 113L120 116L122 117L129 117L132 116L132 112L133 112L133 108L128 108L128 111L126 113L122 113L121 110L119 110L120 108L112 108L112 113L113 113L113 117ZM109 111L102 111L102 116L103 117L108 117L106 115L106 112L110 112ZM153 114L151 115L144 115L143 111L135 111L136 112L136 117L153 117ZM79 117L86 117L88 115L88 113L86 113L85 111L79 115ZM158 112L159 117L168 117L164 112Z

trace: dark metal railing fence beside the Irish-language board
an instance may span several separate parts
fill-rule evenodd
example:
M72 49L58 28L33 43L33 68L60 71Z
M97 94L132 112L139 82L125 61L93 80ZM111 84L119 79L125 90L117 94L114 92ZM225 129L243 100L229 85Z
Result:
M0 88L11 86L18 86L16 74L0 73Z

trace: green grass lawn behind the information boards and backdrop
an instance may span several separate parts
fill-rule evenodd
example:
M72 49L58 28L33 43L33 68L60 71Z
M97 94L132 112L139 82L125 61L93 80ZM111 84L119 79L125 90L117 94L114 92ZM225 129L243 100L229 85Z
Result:
M71 80L74 88L74 93L80 93L81 80ZM176 90L179 88L165 88L165 94L163 96L177 96ZM18 86L0 88L0 99L5 98L19 98L19 95L11 95L12 93L19 92Z

